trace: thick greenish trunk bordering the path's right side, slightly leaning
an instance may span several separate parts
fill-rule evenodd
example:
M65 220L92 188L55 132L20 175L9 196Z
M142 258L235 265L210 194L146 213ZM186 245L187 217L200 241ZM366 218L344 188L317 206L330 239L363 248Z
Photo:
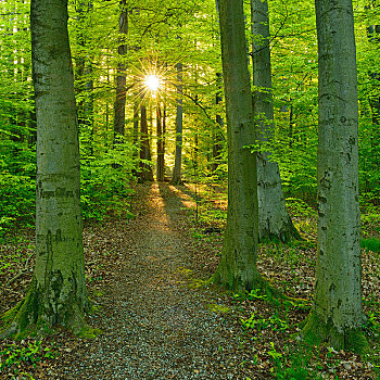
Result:
M212 281L244 292L255 288L257 259L256 155L242 1L220 0L219 24L227 107L228 214L219 266Z

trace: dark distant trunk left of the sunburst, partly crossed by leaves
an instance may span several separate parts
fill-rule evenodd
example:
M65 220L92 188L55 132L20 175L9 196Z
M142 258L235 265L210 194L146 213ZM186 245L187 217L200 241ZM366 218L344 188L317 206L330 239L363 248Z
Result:
M125 55L127 55L128 46L125 43L125 37L128 34L128 12L126 0L122 0L121 16L118 20L118 33L121 34L118 46L119 63L117 64L116 76L116 100L115 100L115 118L114 118L114 140L117 136L124 136L125 126L125 102L126 102L126 69Z

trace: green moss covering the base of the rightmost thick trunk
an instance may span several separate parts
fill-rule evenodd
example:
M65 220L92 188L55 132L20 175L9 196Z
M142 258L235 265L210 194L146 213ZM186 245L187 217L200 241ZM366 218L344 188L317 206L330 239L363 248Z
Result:
M369 350L368 341L360 328L338 331L333 322L326 322L315 312L312 312L299 334L306 343L321 345L327 343L334 350L346 350L357 354L365 354Z

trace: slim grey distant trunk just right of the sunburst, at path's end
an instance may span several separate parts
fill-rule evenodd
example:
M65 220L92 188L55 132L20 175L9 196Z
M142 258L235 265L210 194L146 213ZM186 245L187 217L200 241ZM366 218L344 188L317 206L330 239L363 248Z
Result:
M181 166L182 166L182 129L183 129L183 111L182 111L182 64L177 63L177 115L176 115L176 156L170 183L182 185Z

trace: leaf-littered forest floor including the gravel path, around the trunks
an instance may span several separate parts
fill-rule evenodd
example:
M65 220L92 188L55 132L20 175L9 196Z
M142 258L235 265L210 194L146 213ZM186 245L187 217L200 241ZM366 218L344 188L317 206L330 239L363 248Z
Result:
M201 193L211 216L202 214L198 192L192 186L139 185L134 219L88 224L89 324L102 333L91 340L58 331L37 342L2 341L0 379L379 379L376 329L367 331L372 354L362 357L290 338L313 294L313 217L295 218L312 242L259 248L261 271L288 295L304 299L276 305L256 292L241 297L202 287L219 259L226 204ZM0 249L13 257L0 271L2 313L25 294L33 237ZM365 309L378 320L379 254L364 251L363 261Z

